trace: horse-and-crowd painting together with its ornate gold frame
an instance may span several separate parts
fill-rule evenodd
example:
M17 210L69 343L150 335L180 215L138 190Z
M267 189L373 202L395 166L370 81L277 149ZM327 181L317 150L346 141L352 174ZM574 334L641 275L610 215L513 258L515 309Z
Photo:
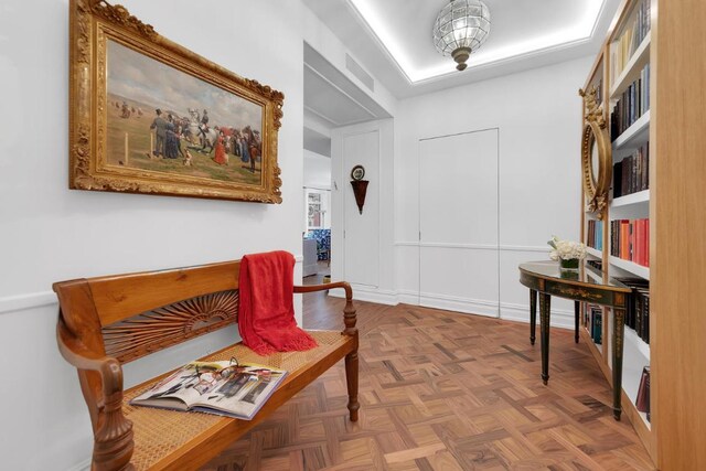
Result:
M280 92L124 7L69 8L69 188L281 203Z

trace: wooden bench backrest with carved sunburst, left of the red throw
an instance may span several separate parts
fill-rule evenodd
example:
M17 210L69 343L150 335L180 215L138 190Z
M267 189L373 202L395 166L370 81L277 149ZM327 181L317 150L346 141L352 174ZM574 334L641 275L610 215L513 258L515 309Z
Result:
M240 260L54 283L62 319L127 363L237 322Z

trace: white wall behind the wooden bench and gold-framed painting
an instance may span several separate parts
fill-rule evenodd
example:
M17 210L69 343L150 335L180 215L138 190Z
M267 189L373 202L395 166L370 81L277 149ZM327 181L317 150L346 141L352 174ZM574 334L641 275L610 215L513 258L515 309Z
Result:
M90 453L90 424L76 373L60 356L54 338L53 281L235 259L276 248L301 255L301 3L120 3L167 38L284 92L284 203L69 191L68 2L2 2L0 350L12 381L0 382L0 457L8 470L64 470ZM231 330L201 339L191 350L175 349L158 365L131 364L127 383L235 335ZM22 394L18 385L26 386Z

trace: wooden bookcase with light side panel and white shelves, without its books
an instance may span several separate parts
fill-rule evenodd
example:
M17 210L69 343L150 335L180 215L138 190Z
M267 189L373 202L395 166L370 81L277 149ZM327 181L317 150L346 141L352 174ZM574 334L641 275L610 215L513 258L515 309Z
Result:
M603 249L592 251L603 271L625 271L650 279L650 345L625 340L629 355L642 355L651 365L652 421L646 424L633 407L629 386L622 404L657 469L706 469L706 2L704 0L651 0L650 35L627 62L624 71L611 74L610 53L621 29L630 20L638 0L624 0L585 87L602 81L603 104L630 84L650 63L650 111L625 130L613 144L613 161L630 146L650 141L650 189L612 199L601 214L605 221L619 217L650 218L650 268L610 257L608 231ZM610 118L609 106L603 116ZM596 217L584 213L581 233ZM610 319L610 315L605 317ZM603 322L601 345L581 335L611 381L608 322ZM634 347L634 349L633 349ZM638 350L631 353L629 350ZM623 377L623 385L630 379Z

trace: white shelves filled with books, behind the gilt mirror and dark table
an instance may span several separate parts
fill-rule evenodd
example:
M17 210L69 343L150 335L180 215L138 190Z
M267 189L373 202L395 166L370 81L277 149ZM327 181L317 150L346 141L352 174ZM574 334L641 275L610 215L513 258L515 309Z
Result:
M603 277L650 280L650 268L646 265L650 265L651 255L648 248L649 238L645 234L645 231L649 233L654 224L654 214L650 210L649 189L654 180L654 175L649 171L652 168L650 161L654 159L654 152L650 152L652 149L649 146L651 127L654 122L650 111L650 96L654 95L650 88L654 75L654 68L651 65L654 35L650 24L656 15L656 1L623 1L584 88L588 90L593 86L600 94L597 101L601 103L600 111L608 122L611 140L612 169L609 171L613 176L611 176L611 191L607 206L598 207L596 212L588 212L586 190L581 196L582 242L589 246L587 249L589 258L601 260L602 271L599 274ZM585 109L586 100L582 110ZM645 223L645 220L649 222ZM618 223L614 223L616 221ZM620 222L628 222L628 225L621 226ZM620 238L621 236L623 238ZM640 237L640 244L637 243L638 237ZM617 247L612 247L613 243ZM638 245L640 254L638 254ZM614 249L618 249L621 256L613 255ZM644 291L641 296L644 296ZM608 382L612 384L611 312L608 308L601 309L602 340L597 344L593 343L593 335L589 332L589 320L593 315L589 315L589 312L592 311L595 308L584 303L581 336L589 343L589 350ZM645 336L644 332L638 333L628 324L625 325L622 405L625 416L656 462L653 426L648 420L646 414L639 411L635 406L643 368L652 363L650 343L642 336Z

